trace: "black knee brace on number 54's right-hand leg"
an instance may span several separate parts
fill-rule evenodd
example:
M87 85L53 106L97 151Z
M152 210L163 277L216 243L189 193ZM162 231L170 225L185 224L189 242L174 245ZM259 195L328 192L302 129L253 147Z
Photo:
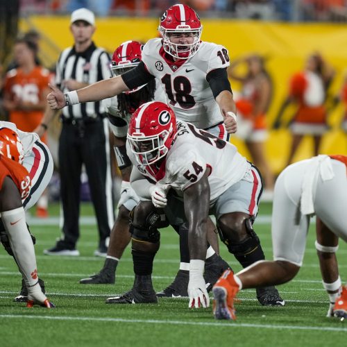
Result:
M247 218L244 220L248 237L246 237L242 242L232 242L230 239L224 237L223 232L219 226L217 226L221 242L226 244L230 253L234 255L246 255L253 252L257 246L260 246L260 239L253 230L253 221L253 218Z

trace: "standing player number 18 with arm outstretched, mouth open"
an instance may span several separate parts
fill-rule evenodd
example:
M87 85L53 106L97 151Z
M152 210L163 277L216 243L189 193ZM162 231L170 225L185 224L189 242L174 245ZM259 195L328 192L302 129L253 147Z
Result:
M50 107L55 110L80 102L99 101L157 78L178 117L228 139L228 135L237 130L236 107L226 72L230 60L228 50L200 40L200 19L187 5L171 6L160 18L158 29L162 39L145 44L144 61L135 69L66 94L50 86L51 93L47 96ZM238 260L242 266L248 265L244 257ZM282 302L274 288L258 289L257 298L262 305Z

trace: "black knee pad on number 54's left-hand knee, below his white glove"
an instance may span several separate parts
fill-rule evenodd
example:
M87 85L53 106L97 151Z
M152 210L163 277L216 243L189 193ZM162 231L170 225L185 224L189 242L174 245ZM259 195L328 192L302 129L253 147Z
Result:
M133 221L133 213L130 213L130 234L139 241L156 244L160 241L160 232L157 228L160 219L160 214L152 211L147 215L142 225L137 225Z

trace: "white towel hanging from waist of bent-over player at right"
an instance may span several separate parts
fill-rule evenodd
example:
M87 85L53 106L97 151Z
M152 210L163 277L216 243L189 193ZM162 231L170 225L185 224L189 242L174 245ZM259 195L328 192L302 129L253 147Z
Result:
M307 166L303 178L303 185L301 186L302 214L314 214L313 185L317 174L320 174L323 181L331 180L335 176L328 155L318 155L312 158L310 164Z

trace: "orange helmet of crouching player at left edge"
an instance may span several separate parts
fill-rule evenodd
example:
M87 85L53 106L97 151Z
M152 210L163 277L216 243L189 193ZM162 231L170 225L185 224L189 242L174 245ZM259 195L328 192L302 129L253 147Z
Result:
M0 154L22 164L24 148L17 133L10 128L0 128Z

